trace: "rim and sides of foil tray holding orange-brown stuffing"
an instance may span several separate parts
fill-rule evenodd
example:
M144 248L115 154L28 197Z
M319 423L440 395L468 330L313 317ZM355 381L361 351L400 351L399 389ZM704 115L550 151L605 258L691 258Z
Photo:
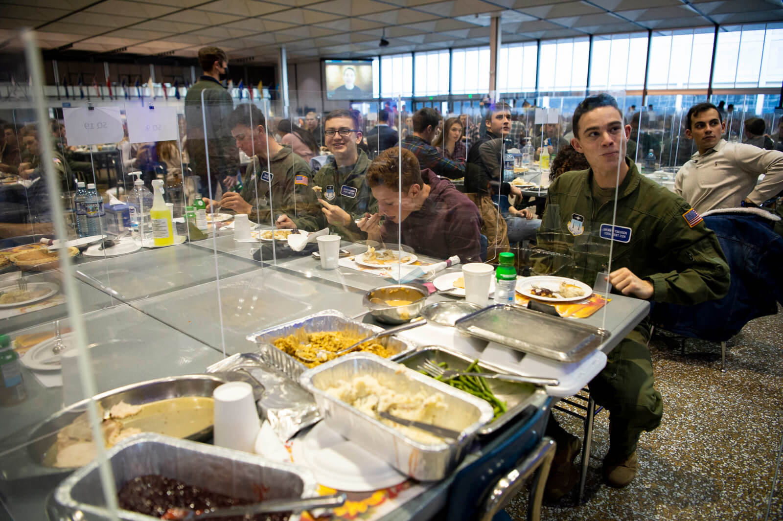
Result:
M261 350L262 359L265 362L272 365L272 367L279 369L290 379L298 380L301 373L308 369L307 366L296 358L277 349L272 342L282 336L305 336L311 332L320 331L341 331L356 336L370 336L373 333L383 331L383 328L378 325L370 325L353 320L340 311L328 309L303 318L298 318L297 320L282 325L276 325L270 329L254 332L247 336L247 340L258 344L258 347ZM390 358L391 360L396 360L402 355L413 352L413 350L416 349L416 346L413 345L413 343L398 336L385 336L384 338L378 339L377 342L384 347L390 347L397 352L397 354Z

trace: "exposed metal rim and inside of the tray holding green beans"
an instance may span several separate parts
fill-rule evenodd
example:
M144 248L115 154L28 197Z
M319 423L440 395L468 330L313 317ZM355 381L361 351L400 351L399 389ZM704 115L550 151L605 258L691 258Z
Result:
M446 364L449 365L449 369L461 371L466 369L468 365L471 365L474 359L462 353L446 349L446 347L427 346L400 358L398 362L405 365L407 368L418 371L418 366L424 364L424 361L427 360L434 361L435 364L446 362ZM481 369L481 372L493 374L496 372L503 372L503 370L482 361L478 361L478 368ZM494 433L508 422L511 422L511 420L516 418L529 405L539 406L547 399L546 390L544 390L543 387L535 386L532 383L503 382L495 379L485 379L485 382L487 383L487 386L489 386L489 390L491 390L500 401L506 402L508 410L497 419L482 426L481 429L478 429L479 436L486 436Z

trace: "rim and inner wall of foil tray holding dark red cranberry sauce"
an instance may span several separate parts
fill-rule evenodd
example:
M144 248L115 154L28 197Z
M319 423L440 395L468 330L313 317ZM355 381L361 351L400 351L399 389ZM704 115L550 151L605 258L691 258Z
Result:
M106 458L114 473L117 490L135 477L160 474L238 498L258 498L258 490L263 490L264 499L318 495L315 476L303 467L161 434L146 433L128 438L110 448ZM87 519L92 516L110 519L106 508L101 508L106 503L98 462L85 465L60 483L54 491L54 502L65 516L81 511L88 514ZM156 519L128 510L120 510L119 515L120 519L133 521ZM298 514L290 516L291 521L297 519Z

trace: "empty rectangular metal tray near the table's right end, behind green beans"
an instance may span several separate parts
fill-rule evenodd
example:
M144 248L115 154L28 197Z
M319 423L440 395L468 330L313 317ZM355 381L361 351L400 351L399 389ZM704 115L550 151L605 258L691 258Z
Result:
M485 307L454 326L470 336L564 362L582 360L610 335L606 329L510 304Z

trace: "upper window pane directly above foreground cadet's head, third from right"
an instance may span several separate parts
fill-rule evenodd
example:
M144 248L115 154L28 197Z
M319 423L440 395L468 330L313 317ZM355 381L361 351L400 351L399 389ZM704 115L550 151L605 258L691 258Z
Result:
M647 41L647 33L595 36L590 63L590 90L644 88Z

